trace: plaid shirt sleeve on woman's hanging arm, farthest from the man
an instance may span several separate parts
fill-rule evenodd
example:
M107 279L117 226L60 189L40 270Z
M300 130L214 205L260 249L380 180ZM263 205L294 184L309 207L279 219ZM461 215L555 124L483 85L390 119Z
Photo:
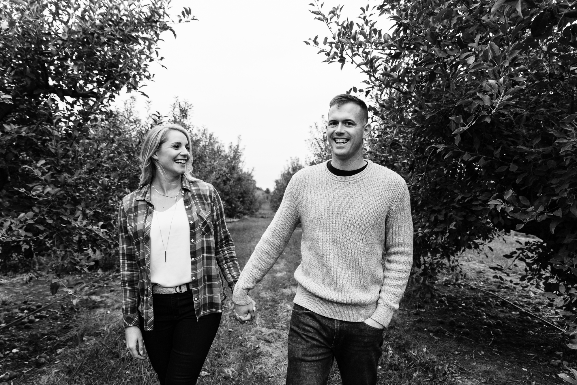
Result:
M128 231L126 212L118 207L118 246L120 251L120 284L124 327L138 326L138 265L132 235Z

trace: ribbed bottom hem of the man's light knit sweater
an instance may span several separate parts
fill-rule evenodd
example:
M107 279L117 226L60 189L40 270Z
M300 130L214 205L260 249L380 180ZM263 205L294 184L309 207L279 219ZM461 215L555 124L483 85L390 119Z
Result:
M306 307L316 314L349 322L363 322L365 319L370 318L377 308L376 299L374 303L368 305L341 304L327 301L309 292L301 284L297 286L297 295L294 297L294 303Z

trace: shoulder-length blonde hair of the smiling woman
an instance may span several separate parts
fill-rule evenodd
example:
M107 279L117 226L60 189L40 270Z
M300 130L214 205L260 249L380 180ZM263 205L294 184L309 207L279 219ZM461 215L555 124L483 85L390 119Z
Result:
M156 175L157 171L162 172L162 169L158 168L155 164L156 160L152 158L152 155L160 148L160 146L168 140L168 131L175 130L183 133L188 141L189 146L189 158L186 161L184 178L189 182L194 182L198 180L192 176L192 154L190 154L190 148L192 144L190 143L190 135L188 131L185 130L180 124L160 124L156 126L146 134L144 138L143 146L140 150L140 161L141 161L141 173L140 173L140 184L138 187L145 186L152 182L152 179Z

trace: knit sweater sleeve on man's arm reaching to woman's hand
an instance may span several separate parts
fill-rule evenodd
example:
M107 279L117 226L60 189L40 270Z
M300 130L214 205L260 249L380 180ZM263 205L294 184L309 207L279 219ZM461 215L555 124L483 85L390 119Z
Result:
M276 210L275 217L258 241L253 254L242 270L233 293L235 304L248 305L250 303L247 297L249 291L271 270L287 246L294 229L297 228L300 221L297 191L293 176L284 191L283 200L279 209Z

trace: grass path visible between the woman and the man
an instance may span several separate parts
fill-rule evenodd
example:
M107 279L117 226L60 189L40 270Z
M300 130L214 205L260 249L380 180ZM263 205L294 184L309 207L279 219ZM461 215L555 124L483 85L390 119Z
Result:
M248 261L271 218L247 218L229 225L239 265ZM241 325L225 312L207 358L209 373L199 384L281 384L286 376L286 339L296 282L293 275L300 262L301 231L297 229L286 250L265 278L252 290L258 316L253 324ZM229 293L230 299L230 293Z

